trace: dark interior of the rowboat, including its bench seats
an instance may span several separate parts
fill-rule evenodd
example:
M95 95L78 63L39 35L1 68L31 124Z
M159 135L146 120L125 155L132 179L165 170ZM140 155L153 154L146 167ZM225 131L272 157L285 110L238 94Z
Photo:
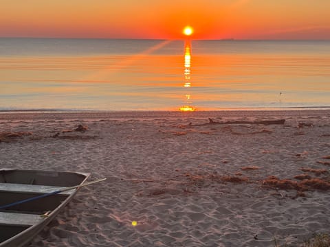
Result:
M86 178L74 172L0 169L0 207L80 185ZM73 192L63 191L0 209L0 243L41 222Z

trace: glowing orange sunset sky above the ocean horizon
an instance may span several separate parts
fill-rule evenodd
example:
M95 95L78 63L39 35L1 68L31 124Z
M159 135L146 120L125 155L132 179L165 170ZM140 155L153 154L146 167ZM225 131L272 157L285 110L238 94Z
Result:
M329 0L0 0L1 37L330 39Z

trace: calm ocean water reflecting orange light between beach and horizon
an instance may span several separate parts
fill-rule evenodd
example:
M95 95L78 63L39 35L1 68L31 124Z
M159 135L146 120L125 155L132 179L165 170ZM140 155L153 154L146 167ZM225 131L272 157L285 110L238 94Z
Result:
M0 38L0 110L330 108L330 41Z

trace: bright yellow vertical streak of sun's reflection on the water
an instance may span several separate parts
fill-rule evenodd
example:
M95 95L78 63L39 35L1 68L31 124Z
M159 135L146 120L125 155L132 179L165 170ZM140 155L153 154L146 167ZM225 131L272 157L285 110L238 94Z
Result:
M184 106L181 106L181 111L195 111L195 107L191 106L191 95L190 95L190 81L191 75L191 43L190 40L186 40L184 43L184 88L186 88L186 98Z

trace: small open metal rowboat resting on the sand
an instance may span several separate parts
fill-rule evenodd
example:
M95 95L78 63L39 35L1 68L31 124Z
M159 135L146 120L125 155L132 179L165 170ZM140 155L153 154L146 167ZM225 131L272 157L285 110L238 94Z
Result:
M72 200L88 176L0 169L0 247L28 244Z

